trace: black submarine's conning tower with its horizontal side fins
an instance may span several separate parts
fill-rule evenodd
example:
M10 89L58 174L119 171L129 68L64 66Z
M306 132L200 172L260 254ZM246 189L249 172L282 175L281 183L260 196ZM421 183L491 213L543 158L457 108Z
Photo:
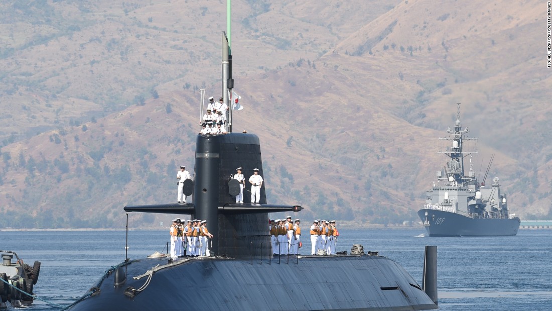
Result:
M246 178L243 203L236 203L239 183L232 179L236 168L242 167ZM247 181L253 169L263 176L261 144L254 134L228 133L197 136L195 144L195 174L192 203L126 206L126 212L189 214L206 220L214 235L211 254L225 257L268 257L270 233L268 213L299 212L300 205L266 204L266 192L261 187L259 204L251 203L251 185ZM237 188L236 188L237 187ZM184 192L186 192L184 186Z

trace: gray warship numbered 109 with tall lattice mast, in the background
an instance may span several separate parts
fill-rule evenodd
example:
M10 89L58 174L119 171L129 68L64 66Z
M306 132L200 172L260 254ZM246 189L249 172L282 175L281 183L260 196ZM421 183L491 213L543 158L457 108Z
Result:
M426 192L426 204L418 210L429 236L508 236L516 235L521 221L508 209L506 193L501 192L498 177L485 185L490 165L482 182L475 177L471 157L475 152L464 151L468 128L460 124L460 103L453 129L449 136L440 138L452 145L439 153L448 157L444 168L437 172L437 182ZM464 172L464 158L470 156L468 174Z

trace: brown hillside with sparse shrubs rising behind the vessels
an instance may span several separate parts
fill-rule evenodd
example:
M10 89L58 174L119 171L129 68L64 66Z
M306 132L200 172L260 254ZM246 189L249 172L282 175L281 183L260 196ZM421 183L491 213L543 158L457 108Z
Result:
M537 1L234 1L236 128L269 202L301 218L416 218L456 104L513 212L550 215L550 70ZM193 172L199 89L220 94L225 3L7 1L0 228L122 227ZM267 121L269 120L269 121ZM544 217L544 216L543 216ZM167 215L133 215L153 226Z

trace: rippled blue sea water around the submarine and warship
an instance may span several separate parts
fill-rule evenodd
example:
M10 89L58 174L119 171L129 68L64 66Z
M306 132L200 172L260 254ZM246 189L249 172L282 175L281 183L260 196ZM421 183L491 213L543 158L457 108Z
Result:
M437 246L440 310L552 310L552 230L517 236L427 238L424 229L340 228L337 251L379 251L422 283L425 245ZM41 262L35 300L25 310L61 310L88 292L103 273L125 259L121 231L0 231L0 250L25 263ZM168 229L129 231L128 257L166 252ZM301 254L310 252L305 239ZM10 308L13 309L13 308Z

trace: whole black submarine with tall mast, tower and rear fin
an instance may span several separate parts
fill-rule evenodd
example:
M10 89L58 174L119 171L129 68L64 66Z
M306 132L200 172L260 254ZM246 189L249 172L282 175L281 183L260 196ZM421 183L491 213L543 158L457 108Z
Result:
M222 87L231 102L229 39L222 32ZM203 93L201 96L203 101ZM229 100L230 99L230 100ZM201 102L200 101L200 102ZM203 107L202 107L203 108ZM274 256L268 213L300 212L301 205L235 203L236 167L263 175L257 135L198 134L194 180L184 182L189 203L127 205L125 212L190 215L206 220L211 256L148 256L111 267L71 311L201 310L432 310L437 306L437 249L426 249L423 284L395 261L376 252ZM345 252L346 253L346 252ZM323 275L323 277L322 277Z

